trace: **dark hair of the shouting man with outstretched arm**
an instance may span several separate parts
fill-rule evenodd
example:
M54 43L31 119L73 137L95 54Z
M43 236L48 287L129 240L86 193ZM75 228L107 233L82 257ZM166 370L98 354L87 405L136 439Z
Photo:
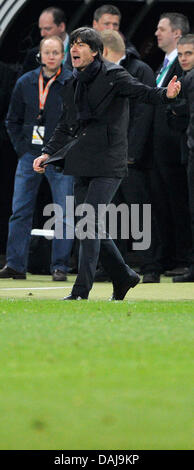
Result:
M77 42L78 39L81 39L85 44L90 46L90 49L93 52L98 52L99 57L103 53L103 42L100 34L93 28L88 28L87 26L83 26L82 28L75 29L70 34L70 47L74 42Z

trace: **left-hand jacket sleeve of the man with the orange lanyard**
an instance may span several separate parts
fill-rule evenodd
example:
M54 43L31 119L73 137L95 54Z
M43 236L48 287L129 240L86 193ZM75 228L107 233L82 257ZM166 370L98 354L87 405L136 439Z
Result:
M20 144L22 142L22 129L24 122L25 103L22 94L21 79L16 82L14 87L7 118L6 128L15 151L20 155Z

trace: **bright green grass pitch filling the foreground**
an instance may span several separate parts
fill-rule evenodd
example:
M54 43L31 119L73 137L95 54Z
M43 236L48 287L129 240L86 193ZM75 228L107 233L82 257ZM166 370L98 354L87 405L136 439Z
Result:
M194 302L11 297L0 301L1 449L193 447Z

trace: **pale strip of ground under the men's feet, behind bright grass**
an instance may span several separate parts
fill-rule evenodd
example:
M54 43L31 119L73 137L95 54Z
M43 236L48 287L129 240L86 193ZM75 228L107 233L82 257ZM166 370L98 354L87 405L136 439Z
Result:
M57 299L68 295L75 276L68 276L68 282L53 282L51 276L28 275L27 280L2 279L0 298ZM110 282L95 283L90 293L91 300L107 300L112 293ZM172 283L171 278L162 277L159 284L138 284L130 289L126 300L194 300L193 283Z

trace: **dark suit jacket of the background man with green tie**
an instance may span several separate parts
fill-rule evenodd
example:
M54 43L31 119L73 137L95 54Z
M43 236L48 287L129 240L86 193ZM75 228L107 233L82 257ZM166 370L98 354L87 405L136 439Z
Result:
M162 86L167 86L171 78L182 75L182 69L176 58L164 79ZM153 125L154 165L173 167L181 164L180 134L168 126L166 107L157 106Z

